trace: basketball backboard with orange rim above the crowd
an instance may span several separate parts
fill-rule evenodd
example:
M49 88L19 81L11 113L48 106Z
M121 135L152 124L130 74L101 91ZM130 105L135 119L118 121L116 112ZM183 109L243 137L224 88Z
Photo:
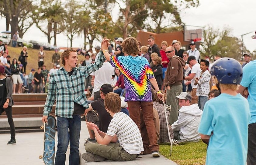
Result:
M204 42L204 27L184 25L184 41Z

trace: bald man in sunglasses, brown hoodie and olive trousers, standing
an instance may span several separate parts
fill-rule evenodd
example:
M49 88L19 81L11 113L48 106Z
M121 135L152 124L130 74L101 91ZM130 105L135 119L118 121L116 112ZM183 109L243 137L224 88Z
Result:
M170 60L166 70L164 85L166 88L166 104L171 105L169 124L173 124L178 120L178 101L175 99L182 92L183 67L185 61L175 55L175 49L170 46L165 50L167 58Z

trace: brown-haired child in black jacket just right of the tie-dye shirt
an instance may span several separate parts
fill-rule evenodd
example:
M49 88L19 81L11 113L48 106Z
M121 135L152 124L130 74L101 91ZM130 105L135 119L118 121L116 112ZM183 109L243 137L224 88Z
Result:
M163 66L161 65L162 58L158 57L158 56L154 57L152 62L154 64L152 67L152 71L156 78L157 85L158 85L159 89L161 89L161 87L163 85L163 71L162 71Z

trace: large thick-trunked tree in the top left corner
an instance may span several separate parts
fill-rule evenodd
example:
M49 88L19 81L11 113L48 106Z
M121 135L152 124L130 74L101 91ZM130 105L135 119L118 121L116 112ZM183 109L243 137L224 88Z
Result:
M22 32L21 35L23 35L32 25L27 24L26 28L24 26L28 18L26 15L33 9L32 2L32 0L2 0L0 2L0 13L6 18L6 30L9 30L9 24L11 25L12 36L17 30ZM19 25L23 28L19 29Z

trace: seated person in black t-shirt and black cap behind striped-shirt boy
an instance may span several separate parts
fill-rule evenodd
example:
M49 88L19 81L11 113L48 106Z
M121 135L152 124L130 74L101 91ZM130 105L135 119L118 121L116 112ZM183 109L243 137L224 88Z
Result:
M105 109L104 99L106 97L106 94L112 91L113 91L113 87L111 86L111 84L103 84L100 87L101 98L99 98L96 101L93 101L91 104L89 104L89 108L85 110L86 121L96 124L99 127L99 130L103 132L107 132L109 123L112 119L110 114ZM96 114L94 110L98 112L99 116ZM96 142L93 131L89 129L88 131L89 131L90 137L88 137L87 141Z

